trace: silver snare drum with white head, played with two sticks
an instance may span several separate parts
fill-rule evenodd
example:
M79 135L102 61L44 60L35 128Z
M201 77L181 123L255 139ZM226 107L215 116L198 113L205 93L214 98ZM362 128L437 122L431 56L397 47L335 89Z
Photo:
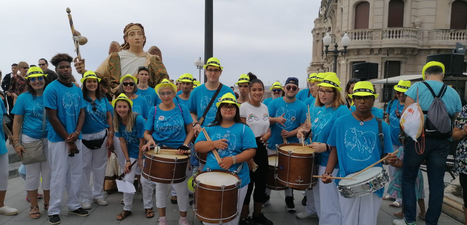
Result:
M346 178L352 178L356 172ZM354 177L356 180L340 180L337 189L344 198L360 197L384 187L389 182L388 172L383 167L371 167Z

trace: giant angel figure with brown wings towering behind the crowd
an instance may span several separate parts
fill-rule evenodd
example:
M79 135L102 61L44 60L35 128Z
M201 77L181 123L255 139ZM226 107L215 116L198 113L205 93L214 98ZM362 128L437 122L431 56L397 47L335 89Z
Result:
M120 85L120 77L127 74L137 75L138 67L140 66L149 67L150 77L148 84L152 88L164 78L169 79L167 70L162 63L162 58L151 54L153 52L145 52L143 50L146 44L146 36L144 34L144 27L141 24L130 23L125 26L125 29L123 29L123 39L124 43L120 46L121 51L118 48L116 50L109 49L109 56L94 70L97 76L102 79L103 88L109 93L114 93L112 90ZM78 73L83 74L87 71L84 59L80 60L77 57L74 62Z

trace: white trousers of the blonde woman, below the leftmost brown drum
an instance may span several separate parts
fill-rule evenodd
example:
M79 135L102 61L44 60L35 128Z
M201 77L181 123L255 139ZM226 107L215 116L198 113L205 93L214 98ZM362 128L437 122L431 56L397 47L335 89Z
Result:
M165 202L166 202L166 199L167 199L167 187L169 185L170 184L163 184L163 183L156 182L156 206L157 206L157 208L165 208ZM188 185L186 185L185 182L172 184L172 185L173 185L175 191L177 192L178 210L180 212L188 211L188 201L189 201L189 199L188 199ZM143 198L145 198L144 195L143 195ZM152 198L150 198L149 200L152 202ZM145 202L145 205L146 205L146 202Z

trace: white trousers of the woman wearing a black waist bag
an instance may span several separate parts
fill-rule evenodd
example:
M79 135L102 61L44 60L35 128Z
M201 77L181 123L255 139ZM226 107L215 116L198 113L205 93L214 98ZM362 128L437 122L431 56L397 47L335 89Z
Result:
M106 136L106 129L90 134L82 134L85 140L97 140ZM89 202L92 199L104 198L104 178L107 167L106 148L107 137L99 149L91 150L83 145L83 176L81 182L81 201ZM92 171L92 190L89 186L89 179Z

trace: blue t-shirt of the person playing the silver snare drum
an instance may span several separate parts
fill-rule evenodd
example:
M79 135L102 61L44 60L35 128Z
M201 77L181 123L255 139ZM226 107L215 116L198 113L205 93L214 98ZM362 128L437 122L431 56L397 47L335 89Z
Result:
M385 122L381 125L384 134L384 154L393 152L389 126ZM364 122L363 126L351 113L336 119L326 143L337 149L338 177L359 172L381 159L382 149L378 130L376 118ZM382 164L375 166L382 167ZM336 179L336 184L339 181ZM383 192L384 187L375 193L381 198Z

